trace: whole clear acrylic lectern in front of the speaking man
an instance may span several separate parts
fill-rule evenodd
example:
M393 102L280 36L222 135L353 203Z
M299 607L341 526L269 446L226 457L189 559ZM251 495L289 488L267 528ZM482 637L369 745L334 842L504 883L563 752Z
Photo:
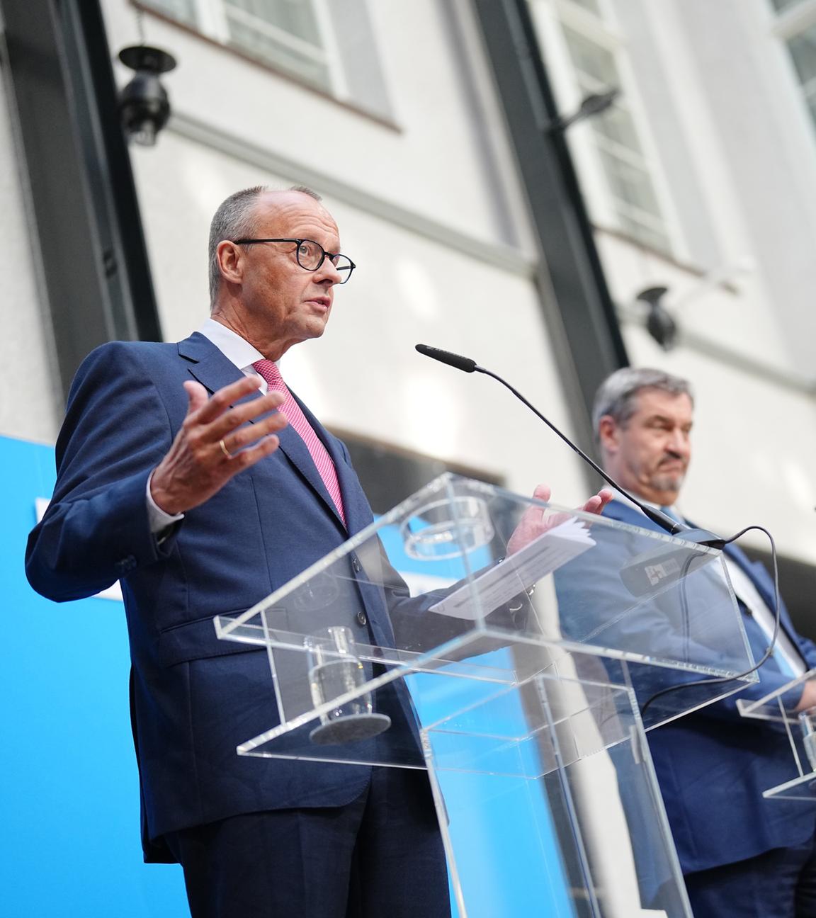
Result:
M239 755L429 769L462 918L690 915L640 707L753 678L718 552L444 475L216 628L270 660Z

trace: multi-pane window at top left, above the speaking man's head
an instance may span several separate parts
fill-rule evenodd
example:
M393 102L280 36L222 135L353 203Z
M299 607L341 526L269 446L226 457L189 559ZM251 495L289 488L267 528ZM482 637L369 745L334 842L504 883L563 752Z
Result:
M364 0L140 0L381 118L390 105Z

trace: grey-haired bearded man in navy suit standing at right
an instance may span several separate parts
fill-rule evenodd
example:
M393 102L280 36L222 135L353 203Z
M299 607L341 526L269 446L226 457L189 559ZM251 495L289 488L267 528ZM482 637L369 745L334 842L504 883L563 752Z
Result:
M692 413L687 381L648 369L609 376L593 410L609 474L678 519L675 503L691 458ZM621 495L604 515L657 529ZM736 546L727 546L725 554L759 659L773 627L773 581ZM795 632L783 609L777 650L760 669L760 685L749 691L762 697L812 666L816 646ZM763 790L798 775L784 731L742 718L735 699L648 733L695 918L816 916L816 809L805 801L762 797ZM816 704L816 684L789 692L785 702L791 711Z

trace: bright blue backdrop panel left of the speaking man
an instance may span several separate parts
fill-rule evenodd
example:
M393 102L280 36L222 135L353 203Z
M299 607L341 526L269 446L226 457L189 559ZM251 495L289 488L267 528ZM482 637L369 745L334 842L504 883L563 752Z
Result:
M54 451L0 437L0 913L178 918L184 878L141 863L120 602L56 604L23 570Z

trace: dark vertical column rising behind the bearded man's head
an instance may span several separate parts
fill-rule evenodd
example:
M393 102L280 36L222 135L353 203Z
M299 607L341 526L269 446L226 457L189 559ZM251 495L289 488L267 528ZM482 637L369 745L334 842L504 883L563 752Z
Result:
M558 111L527 0L473 2L541 245L542 304L551 326L560 323L555 339L572 356L588 409L601 381L629 364L593 230L564 133L552 128Z

